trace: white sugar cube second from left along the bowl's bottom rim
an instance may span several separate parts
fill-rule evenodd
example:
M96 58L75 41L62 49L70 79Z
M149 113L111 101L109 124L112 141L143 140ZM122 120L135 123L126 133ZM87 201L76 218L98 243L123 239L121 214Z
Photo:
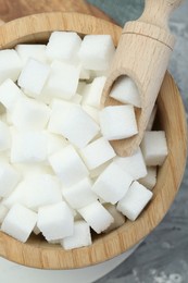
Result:
M37 226L47 241L73 235L74 218L65 201L46 206L38 211Z

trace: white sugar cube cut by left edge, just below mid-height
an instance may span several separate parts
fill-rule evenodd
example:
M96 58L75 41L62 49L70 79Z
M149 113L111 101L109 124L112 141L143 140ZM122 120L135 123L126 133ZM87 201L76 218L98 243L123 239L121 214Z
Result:
M0 161L0 197L9 196L20 181L18 172L9 163Z

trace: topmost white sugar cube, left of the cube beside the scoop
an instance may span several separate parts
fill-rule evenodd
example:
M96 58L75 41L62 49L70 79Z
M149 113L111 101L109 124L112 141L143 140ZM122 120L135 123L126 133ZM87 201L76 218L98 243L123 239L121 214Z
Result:
M74 61L82 44L80 37L73 32L53 32L47 44L49 60Z

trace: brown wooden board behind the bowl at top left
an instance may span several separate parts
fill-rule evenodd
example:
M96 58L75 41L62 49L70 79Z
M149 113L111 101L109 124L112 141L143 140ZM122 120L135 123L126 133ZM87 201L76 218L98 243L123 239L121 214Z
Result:
M112 21L85 0L0 0L0 19L4 22L43 12L78 12Z

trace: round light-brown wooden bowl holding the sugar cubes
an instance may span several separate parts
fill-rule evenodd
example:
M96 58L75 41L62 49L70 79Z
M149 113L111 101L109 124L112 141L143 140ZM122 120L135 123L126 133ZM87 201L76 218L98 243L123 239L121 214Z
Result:
M18 19L0 27L0 48L16 44L47 42L53 30L75 30L79 35L110 34L117 45L122 28L93 16L77 13L43 13ZM0 232L0 256L17 263L41 269L75 269L111 259L141 241L164 218L183 179L187 155L187 125L178 89L166 73L158 99L160 128L167 137L168 156L160 168L154 197L135 222L126 221L110 234L98 235L89 247L64 250L41 237L26 244Z

